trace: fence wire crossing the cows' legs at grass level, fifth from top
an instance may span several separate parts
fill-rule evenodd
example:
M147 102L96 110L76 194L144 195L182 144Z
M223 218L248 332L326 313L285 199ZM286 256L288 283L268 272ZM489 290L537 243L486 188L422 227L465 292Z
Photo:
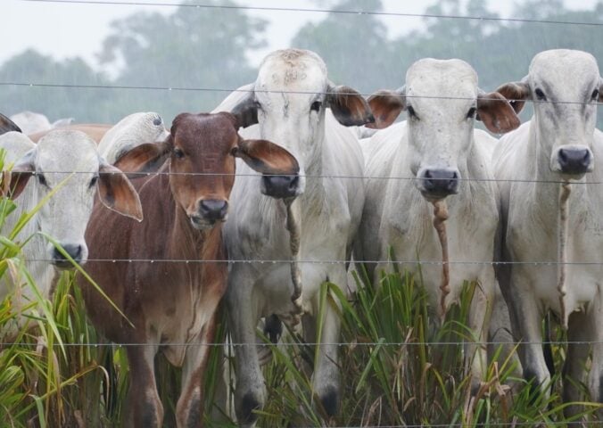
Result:
M104 347L104 346L117 346L117 347L142 347L142 346L173 346L173 347L201 347L201 346L209 346L209 347L220 347L220 346L233 346L235 348L247 347L247 346L260 346L260 347L289 347L289 346L337 346L337 347L390 347L390 346L399 346L401 348L409 347L409 346L458 346L471 343L478 346L486 346L486 345L515 345L513 342L470 342L470 341L458 341L458 342L278 342L278 343L264 343L264 342L240 342L240 343L231 343L231 342L124 342L124 343L114 343L114 342L63 342L61 343L53 343L53 346L92 346L93 348ZM566 342L566 341L545 341L545 342L521 342L523 345L594 345L601 344L603 342ZM37 346L39 342L28 343L28 342L0 342L0 347L4 346ZM47 346L47 343L44 343Z

